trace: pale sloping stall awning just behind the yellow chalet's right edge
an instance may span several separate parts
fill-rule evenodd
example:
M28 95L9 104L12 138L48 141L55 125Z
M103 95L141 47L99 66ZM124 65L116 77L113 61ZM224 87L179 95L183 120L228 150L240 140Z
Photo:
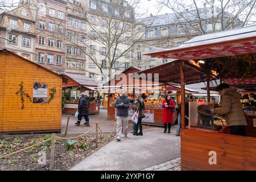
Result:
M81 85L89 88L92 87L94 89L94 87L98 86L98 82L85 75L63 73L63 77L68 79L67 83L63 82L63 87Z

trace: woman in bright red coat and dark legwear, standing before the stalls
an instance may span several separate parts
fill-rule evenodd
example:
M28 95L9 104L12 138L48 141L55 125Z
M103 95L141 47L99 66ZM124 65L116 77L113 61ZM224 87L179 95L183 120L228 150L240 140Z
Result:
M166 99L163 101L162 107L163 110L163 118L162 122L164 123L164 133L167 130L167 123L168 123L168 133L171 133L171 123L173 118L172 109L174 109L174 100L171 99L171 96L166 96Z

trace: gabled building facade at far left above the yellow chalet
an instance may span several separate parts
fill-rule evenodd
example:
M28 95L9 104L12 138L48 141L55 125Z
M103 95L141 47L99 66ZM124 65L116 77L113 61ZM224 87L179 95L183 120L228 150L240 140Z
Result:
M35 10L27 5L0 15L0 48L6 48L28 60L35 54Z

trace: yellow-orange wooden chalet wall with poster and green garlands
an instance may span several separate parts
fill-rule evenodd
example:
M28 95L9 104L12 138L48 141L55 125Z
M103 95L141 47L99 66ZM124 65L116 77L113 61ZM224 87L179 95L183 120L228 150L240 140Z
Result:
M23 90L31 98L34 82L46 82L48 89L55 87L55 97L49 104L33 104L25 97L24 109L21 109L20 96L15 92L22 81ZM14 53L0 51L0 132L60 130L61 96L61 76Z

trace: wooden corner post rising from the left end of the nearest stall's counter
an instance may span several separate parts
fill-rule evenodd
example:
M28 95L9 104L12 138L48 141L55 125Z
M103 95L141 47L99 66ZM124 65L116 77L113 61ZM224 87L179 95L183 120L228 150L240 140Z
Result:
M180 64L180 94L181 94L181 129L185 128L185 82L184 82L184 60Z

